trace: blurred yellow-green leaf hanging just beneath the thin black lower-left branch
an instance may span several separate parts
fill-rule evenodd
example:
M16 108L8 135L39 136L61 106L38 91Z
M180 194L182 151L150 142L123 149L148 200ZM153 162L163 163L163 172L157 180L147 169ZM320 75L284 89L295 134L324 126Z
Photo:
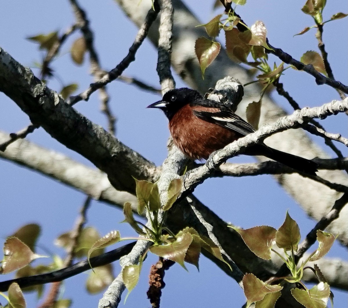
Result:
M94 270L89 272L86 289L89 294L96 294L103 291L114 280L112 273L112 265L106 264L103 266L95 267Z

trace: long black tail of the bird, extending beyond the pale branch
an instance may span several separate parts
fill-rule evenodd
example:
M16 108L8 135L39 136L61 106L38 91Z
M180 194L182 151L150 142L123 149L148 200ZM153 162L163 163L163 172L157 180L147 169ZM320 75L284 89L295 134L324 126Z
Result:
M276 149L267 147L266 145L255 145L252 150L255 150L255 152L257 153L256 155L266 156L270 159L278 161L279 163L282 163L283 165L286 165L300 172L307 173L309 175L316 175L316 172L318 171L318 164L314 161L278 151Z

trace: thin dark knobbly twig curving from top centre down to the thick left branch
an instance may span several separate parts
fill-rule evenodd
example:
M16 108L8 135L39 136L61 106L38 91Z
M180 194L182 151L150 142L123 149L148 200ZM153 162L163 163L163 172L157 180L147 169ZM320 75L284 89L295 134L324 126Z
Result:
M136 51L139 49L140 45L146 38L151 24L153 23L153 21L156 19L158 15L158 6L156 5L156 3L157 2L155 1L155 10L152 10L151 8L148 11L145 21L140 27L133 45L129 48L128 55L114 69L106 73L100 80L90 84L87 90L80 93L79 95L70 97L70 102L69 102L70 105L74 105L81 100L87 101L93 92L95 92L96 90L102 88L106 84L118 78L122 74L122 72L129 66L129 64L135 60Z

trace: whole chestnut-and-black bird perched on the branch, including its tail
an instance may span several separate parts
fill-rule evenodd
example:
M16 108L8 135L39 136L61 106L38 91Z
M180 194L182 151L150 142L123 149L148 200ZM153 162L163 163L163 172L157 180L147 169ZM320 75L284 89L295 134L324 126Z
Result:
M188 88L170 90L162 100L147 108L164 111L175 145L191 159L207 159L212 152L255 132L228 106L205 99L196 90ZM244 154L263 155L309 175L315 175L318 167L314 161L272 149L266 144L252 145Z

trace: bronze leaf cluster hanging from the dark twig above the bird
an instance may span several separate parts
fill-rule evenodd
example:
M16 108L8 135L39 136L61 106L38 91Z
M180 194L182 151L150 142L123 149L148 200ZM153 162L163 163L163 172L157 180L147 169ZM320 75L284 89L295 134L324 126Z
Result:
M244 5L246 1L234 2ZM225 18L223 14L219 14L208 23L201 25L205 27L210 39L201 37L196 40L196 56L204 77L206 68L214 61L221 50L220 43L216 42L215 39L222 30L225 34L228 57L235 63L244 63L252 66L253 69L260 70L261 74L256 77L264 85L261 98L257 102L252 102L246 110L248 122L257 129L260 120L262 97L269 86L282 74L284 65L283 63L279 66L274 64L273 68L271 68L268 64L268 55L265 49L270 49L270 47L267 44L267 29L262 21L255 22L249 28L239 17L235 16L234 11L228 12L226 15ZM244 26L244 31L238 29L239 24ZM248 60L249 55L252 56L252 61Z

